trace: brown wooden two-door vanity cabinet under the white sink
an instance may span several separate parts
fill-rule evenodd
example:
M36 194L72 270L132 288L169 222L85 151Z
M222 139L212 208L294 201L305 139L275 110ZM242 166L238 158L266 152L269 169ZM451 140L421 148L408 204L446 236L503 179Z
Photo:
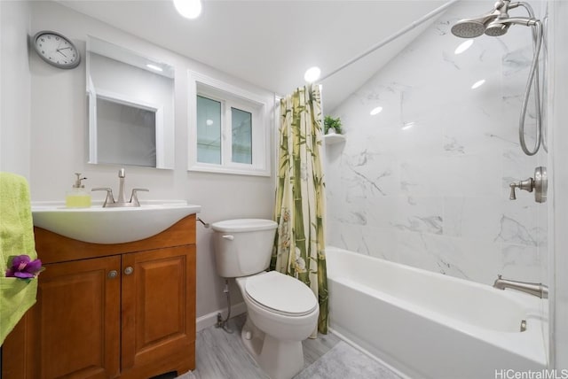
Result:
M139 379L195 367L195 214L123 244L35 235L46 269L36 305L4 342L2 377Z

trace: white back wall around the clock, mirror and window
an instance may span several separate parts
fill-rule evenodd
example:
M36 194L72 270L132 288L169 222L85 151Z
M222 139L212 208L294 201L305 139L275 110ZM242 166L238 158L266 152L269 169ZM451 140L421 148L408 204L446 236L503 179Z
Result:
M248 91L260 91L273 105L273 94L199 64L135 36L123 33L95 19L51 2L32 4L32 30L55 29L70 37L83 58L86 35L134 50L143 56L175 66L175 167L158 170L126 167L126 187L147 188L145 199L184 198L201 205L200 217L208 222L236 217L272 218L274 181L272 177L188 173L187 112L188 76L193 70ZM31 192L32 200L62 200L73 184L73 173L83 173L86 187L118 186L119 166L87 164L87 101L84 61L73 70L51 67L30 52L31 72ZM273 130L272 125L268 126ZM102 199L95 194L93 199ZM197 315L225 307L224 282L217 277L210 229L197 226ZM233 302L241 301L233 287Z

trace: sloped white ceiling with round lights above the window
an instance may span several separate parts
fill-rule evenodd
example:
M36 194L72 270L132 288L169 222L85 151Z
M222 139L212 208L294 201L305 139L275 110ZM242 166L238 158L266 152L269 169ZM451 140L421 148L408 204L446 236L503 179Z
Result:
M283 96L446 4L441 0L204 0L184 19L170 0L61 0L77 12ZM430 20L433 21L436 18ZM414 28L322 81L324 111L337 104L422 32Z

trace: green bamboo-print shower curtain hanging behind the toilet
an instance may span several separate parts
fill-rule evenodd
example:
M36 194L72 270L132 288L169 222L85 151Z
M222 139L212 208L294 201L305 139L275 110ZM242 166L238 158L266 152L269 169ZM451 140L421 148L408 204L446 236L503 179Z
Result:
M319 301L318 330L327 334L325 192L319 86L280 100L280 154L271 268L308 285ZM312 337L317 332L314 331Z

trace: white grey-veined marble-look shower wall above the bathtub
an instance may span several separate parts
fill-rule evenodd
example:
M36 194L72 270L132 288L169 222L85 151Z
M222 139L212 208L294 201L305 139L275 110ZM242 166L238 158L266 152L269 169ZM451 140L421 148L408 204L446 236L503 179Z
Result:
M509 182L546 166L544 152L527 157L518 143L531 30L477 37L461 54L454 50L466 40L450 33L492 5L454 5L327 110L346 136L326 146L327 244L475 282L498 274L546 282L547 204L519 190L509 200ZM534 124L531 100L530 147Z

